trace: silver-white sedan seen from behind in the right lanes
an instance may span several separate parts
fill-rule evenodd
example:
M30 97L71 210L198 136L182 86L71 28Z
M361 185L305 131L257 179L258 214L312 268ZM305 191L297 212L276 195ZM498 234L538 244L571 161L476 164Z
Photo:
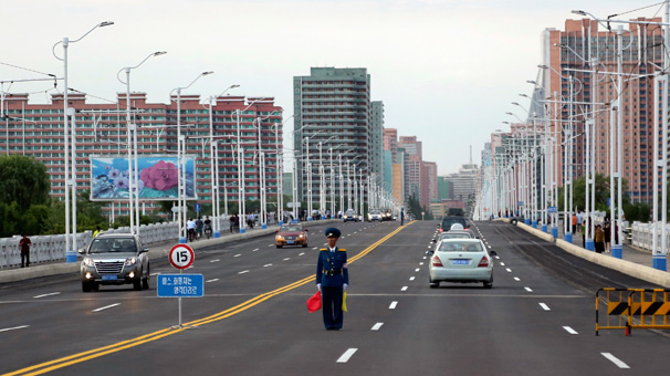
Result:
M493 286L493 259L480 239L441 239L429 263L429 282L437 289L440 282L483 283Z

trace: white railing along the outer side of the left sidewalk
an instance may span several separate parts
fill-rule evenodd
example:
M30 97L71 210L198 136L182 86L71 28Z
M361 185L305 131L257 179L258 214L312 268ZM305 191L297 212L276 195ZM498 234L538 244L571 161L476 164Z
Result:
M214 219L212 219L214 220ZM219 218L221 232L230 231L230 221L228 217ZM269 223L273 224L273 223ZM105 233L128 233L129 227L106 230ZM178 239L177 222L164 222L143 224L139 227L142 241L145 244L157 243L166 240ZM92 231L84 231L76 234L76 246L80 249L88 244L93 239ZM21 248L19 247L20 236L0 239L0 269L15 268L21 264ZM65 261L65 236L40 236L30 237L32 246L30 248L30 263L48 263Z

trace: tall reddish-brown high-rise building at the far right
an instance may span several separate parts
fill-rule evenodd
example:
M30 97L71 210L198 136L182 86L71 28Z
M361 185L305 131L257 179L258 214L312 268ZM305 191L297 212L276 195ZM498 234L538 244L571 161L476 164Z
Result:
M574 137L575 146L568 163L573 177L584 175L586 164L586 124L594 122L596 173L610 175L610 150L622 156L621 177L628 181L628 195L632 202L651 202L653 189L653 145L659 142L653 133L653 106L659 95L653 91L653 75L663 66L663 35L661 27L645 22L661 22L660 18L637 19L621 36L624 86L619 93L616 73L619 56L617 31L599 30L595 20L566 20L565 30L547 29L543 34L544 70L538 86L543 96L557 100L547 105L553 134ZM597 73L594 75L593 70ZM569 105L570 98L579 105ZM542 98L541 98L542 100ZM595 105L589 105L596 103ZM619 150L610 140L610 116L616 107L622 113L624 148ZM559 108L555 114L554 109ZM572 114L569 113L572 108ZM660 116L660 115L657 115ZM568 119L573 118L569 123ZM569 125L572 124L572 129ZM561 143L559 143L561 144ZM561 149L559 154L565 154ZM561 176L564 161L559 161ZM615 163L616 166L616 163ZM563 182L559 181L562 185ZM626 192L625 192L626 194Z

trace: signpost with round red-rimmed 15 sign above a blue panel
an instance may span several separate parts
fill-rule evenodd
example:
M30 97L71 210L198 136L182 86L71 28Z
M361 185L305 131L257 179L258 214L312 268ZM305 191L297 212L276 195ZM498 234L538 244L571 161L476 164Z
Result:
M156 289L158 297L179 299L179 325L172 326L172 328L197 328L197 326L181 324L181 297L202 297L205 294L202 274L181 273L193 264L196 252L187 244L177 244L170 250L169 259L170 264L179 269L179 274L158 275L158 286Z

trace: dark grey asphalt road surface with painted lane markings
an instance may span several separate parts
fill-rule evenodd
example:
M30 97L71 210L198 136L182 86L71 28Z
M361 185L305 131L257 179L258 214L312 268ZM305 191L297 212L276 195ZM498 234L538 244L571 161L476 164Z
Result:
M151 288L82 293L78 275L0 285L0 374L6 375L624 375L660 374L667 332L601 331L598 288L653 288L593 265L502 222L478 222L498 252L492 290L428 285L437 222L346 223L344 328L308 313L316 253L273 237L198 251L188 273L205 297ZM154 260L153 273L176 273ZM628 367L628 368L627 368Z

